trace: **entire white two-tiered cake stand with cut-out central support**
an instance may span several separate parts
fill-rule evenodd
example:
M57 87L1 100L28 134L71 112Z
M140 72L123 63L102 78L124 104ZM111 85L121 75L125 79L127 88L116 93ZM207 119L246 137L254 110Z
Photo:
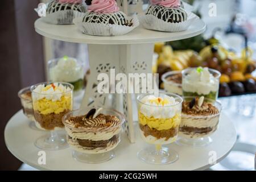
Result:
M95 91L97 86L98 73L109 73L110 68L115 68L118 72L124 73L151 73L151 60L154 51L154 42L167 42L196 36L205 31L205 24L197 20L187 31L167 33L145 30L142 27L123 36L102 37L81 34L74 25L57 26L47 24L38 19L35 22L36 32L48 38L63 40L66 42L87 43L89 44L89 61L92 75L82 106L86 105L108 105L106 97L99 95ZM96 88L97 89L97 88ZM124 110L129 126L129 139L122 132L122 142L115 149L115 158L101 164L86 164L77 162L72 158L71 148L59 151L45 151L46 164L39 164L40 150L34 146L34 139L42 135L44 131L31 130L28 126L28 119L20 110L16 113L5 128L5 142L10 152L22 162L44 170L199 170L207 169L212 164L212 154L216 154L216 162L220 162L236 142L236 131L233 123L221 115L220 125L216 133L212 135L213 142L206 147L185 147L172 143L170 146L179 154L177 162L156 166L142 162L137 158L137 152L146 143L138 135L137 123L133 122L136 115L133 112L131 95L125 95ZM121 98L119 98L121 99ZM116 104L116 103L115 103ZM113 106L113 105L112 105ZM118 107L118 106L116 106Z

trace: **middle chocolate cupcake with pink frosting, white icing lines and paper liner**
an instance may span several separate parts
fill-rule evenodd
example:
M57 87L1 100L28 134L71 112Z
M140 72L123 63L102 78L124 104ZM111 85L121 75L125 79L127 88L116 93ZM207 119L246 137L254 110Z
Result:
M123 35L139 25L137 18L128 18L119 11L115 0L87 0L88 12L74 22L84 34L99 36Z

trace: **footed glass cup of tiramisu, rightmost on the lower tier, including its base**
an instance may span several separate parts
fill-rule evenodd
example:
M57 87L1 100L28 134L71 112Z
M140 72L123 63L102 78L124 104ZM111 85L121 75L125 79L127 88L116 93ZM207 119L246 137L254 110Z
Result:
M195 114L191 110L185 111L187 110L185 108L188 108L185 106L186 103L191 102L193 98L195 97L184 97L179 138L176 143L192 147L207 146L213 141L210 135L212 135L218 128L222 110L221 103L204 98L204 104L201 107L196 106L200 108L200 111L198 114ZM198 100L196 102L198 102ZM204 108L206 113L203 111Z

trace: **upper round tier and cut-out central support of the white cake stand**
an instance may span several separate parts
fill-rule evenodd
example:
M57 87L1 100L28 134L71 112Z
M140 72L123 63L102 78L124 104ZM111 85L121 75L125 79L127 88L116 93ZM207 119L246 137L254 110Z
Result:
M81 107L111 106L124 113L127 119L126 133L131 143L135 142L131 94L123 94L122 97L116 94L114 100L109 101L109 94L97 92L98 73L110 75L112 68L115 74L151 73L155 42L191 38L203 33L205 27L205 23L197 19L187 31L182 32L151 31L139 26L122 36L91 36L82 34L75 25L53 25L44 23L42 19L35 22L36 32L47 38L88 44L91 75Z

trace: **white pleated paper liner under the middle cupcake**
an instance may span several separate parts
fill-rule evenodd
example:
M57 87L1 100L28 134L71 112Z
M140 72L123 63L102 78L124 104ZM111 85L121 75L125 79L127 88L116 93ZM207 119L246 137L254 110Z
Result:
M97 36L117 36L124 35L128 32L134 30L134 28L139 26L139 20L137 16L133 16L131 22L132 26L122 26L115 24L104 24L104 23L86 23L82 22L82 17L75 18L73 23L79 27L79 30L84 34L97 35Z

